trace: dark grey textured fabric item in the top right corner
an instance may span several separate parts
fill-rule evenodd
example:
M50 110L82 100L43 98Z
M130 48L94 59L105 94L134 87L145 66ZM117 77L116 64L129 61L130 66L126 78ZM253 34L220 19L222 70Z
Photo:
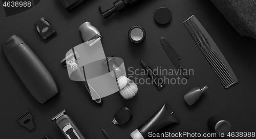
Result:
M256 0L211 0L242 36L256 39Z

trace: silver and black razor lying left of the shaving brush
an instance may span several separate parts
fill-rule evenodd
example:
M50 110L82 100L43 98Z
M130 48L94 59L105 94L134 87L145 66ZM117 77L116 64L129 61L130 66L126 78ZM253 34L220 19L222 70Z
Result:
M74 51L73 49L73 53L69 54L66 58L64 58L62 61L61 61L61 64L66 67L68 65L70 65L71 69L73 72L76 73L76 75L80 78L80 80L83 82L84 86L86 86L88 92L90 93L91 95L91 91L90 91L90 88L93 90L94 93L96 93L97 95L97 98L93 98L93 100L97 103L97 104L102 104L103 103L103 100L100 98L99 94L90 86L90 84L88 84L87 80L86 80L86 76L85 75L82 75L80 69L79 69L79 66L77 64L77 59L79 58L79 55L76 51ZM84 68L83 68L84 70ZM83 71L83 73L85 73ZM83 81L84 80L84 81ZM90 88L89 88L90 87Z

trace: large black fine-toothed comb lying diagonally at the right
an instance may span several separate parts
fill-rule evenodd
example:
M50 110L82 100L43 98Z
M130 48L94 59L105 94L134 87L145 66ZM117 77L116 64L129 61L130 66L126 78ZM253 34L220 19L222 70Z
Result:
M192 15L183 24L197 43L211 68L215 71L224 88L227 89L236 84L238 82L236 75L197 17Z

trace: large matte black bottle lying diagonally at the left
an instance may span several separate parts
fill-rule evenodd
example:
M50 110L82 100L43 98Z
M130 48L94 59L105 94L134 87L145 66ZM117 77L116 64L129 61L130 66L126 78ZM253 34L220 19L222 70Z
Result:
M23 39L13 35L1 46L13 70L39 103L44 104L58 93L52 75Z

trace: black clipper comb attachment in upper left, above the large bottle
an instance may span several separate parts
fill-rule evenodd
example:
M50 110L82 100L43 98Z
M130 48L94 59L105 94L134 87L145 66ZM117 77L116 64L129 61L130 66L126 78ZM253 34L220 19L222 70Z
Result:
M46 42L50 41L57 35L51 24L44 17L35 22L35 27Z

